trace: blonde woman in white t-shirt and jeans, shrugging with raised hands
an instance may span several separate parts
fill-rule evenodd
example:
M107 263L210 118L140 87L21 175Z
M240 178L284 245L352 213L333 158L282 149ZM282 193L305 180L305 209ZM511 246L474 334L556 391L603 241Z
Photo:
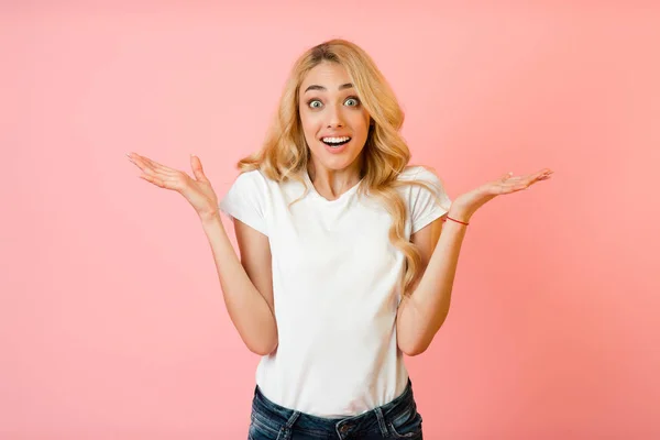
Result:
M372 58L332 40L295 63L265 145L220 204L198 157L191 178L129 155L199 215L232 322L262 355L250 439L421 439L403 354L444 321L474 212L552 173L509 173L452 202L408 164L403 122Z

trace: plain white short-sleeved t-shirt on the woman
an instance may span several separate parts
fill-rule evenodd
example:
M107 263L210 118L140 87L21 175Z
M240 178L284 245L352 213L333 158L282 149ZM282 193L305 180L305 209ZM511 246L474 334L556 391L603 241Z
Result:
M399 188L408 216L406 238L451 205L438 177L421 166L399 179L430 180L438 205L420 186ZM405 258L389 242L392 218L358 194L320 196L295 180L277 183L260 170L239 175L219 208L268 237L278 346L262 356L256 384L272 402L319 417L350 417L399 396L408 372L396 343L396 311Z

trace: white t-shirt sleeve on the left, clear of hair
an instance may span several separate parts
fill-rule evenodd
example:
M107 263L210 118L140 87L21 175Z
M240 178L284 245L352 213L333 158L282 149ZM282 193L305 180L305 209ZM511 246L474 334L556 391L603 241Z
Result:
M258 170L241 173L220 201L218 208L230 219L234 218L268 235L266 227L267 187Z

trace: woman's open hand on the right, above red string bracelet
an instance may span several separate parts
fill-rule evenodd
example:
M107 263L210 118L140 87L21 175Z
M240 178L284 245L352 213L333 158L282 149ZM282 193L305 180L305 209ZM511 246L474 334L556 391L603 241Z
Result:
M457 197L451 204L449 217L468 222L474 212L487 201L504 194L529 189L537 182L549 179L552 173L554 172L549 168L543 168L527 176L514 176L513 173L507 173L497 180L488 182L470 193Z

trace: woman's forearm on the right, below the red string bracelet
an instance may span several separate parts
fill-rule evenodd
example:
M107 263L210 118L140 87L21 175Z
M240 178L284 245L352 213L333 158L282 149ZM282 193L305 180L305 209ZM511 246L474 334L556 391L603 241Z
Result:
M453 213L449 216L461 219ZM400 320L402 334L408 338L402 345L409 348L409 355L422 353L429 346L449 314L465 228L451 220L444 223L421 279L410 297L402 301L404 307L397 320Z

